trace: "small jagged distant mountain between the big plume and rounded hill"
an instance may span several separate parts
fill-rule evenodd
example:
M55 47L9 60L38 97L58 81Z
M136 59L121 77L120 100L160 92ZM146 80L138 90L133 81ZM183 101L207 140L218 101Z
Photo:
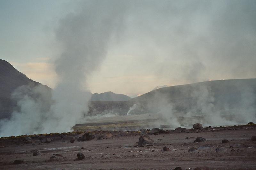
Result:
M124 94L116 94L113 92L104 92L104 93L94 93L92 95L91 100L92 101L127 101L130 100L129 96L126 96Z

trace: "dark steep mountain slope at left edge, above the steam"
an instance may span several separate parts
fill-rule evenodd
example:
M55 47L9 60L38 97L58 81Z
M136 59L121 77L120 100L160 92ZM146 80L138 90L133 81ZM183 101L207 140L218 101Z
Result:
M0 59L0 119L7 118L12 113L15 103L11 100L11 94L21 85L42 85L28 78L16 70L10 63ZM48 86L42 85L51 90Z

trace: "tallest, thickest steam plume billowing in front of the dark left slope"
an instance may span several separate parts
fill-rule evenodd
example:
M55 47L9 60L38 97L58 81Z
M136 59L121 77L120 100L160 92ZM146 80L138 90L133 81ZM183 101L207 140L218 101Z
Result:
M115 8L113 8L115 4ZM85 1L81 10L60 20L56 38L61 55L55 61L58 85L22 86L13 92L16 111L0 123L0 136L69 131L88 112L86 77L106 56L112 32L122 23L120 1ZM48 89L49 91L49 89Z

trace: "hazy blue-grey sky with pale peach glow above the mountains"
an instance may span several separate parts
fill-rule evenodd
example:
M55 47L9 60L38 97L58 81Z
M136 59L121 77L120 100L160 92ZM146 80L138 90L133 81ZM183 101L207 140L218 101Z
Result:
M106 58L88 77L92 92L134 95L157 85L256 77L255 0L108 2L106 8L120 7L124 16ZM0 0L1 59L54 88L56 29L87 3ZM88 16L92 22L98 13Z

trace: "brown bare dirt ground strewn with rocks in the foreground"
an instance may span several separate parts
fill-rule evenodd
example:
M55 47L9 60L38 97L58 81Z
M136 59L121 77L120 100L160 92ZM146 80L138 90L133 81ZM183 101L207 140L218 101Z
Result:
M97 140L97 137L111 133L113 137ZM140 131L106 132L94 131L95 139L70 143L70 137L78 138L83 134L49 136L51 143L39 143L37 138L25 144L23 138L0 139L0 169L174 169L181 166L194 169L208 166L210 169L256 169L256 126L209 128L196 130L165 131L150 135L154 146L134 147L140 137ZM46 136L47 137L47 136ZM196 137L205 142L194 143ZM187 138L187 139L186 139ZM227 139L228 143L221 143ZM170 151L164 152L167 146ZM83 147L83 148L82 148ZM188 152L195 147L195 152ZM216 152L220 147L221 151ZM41 156L33 156L39 150ZM81 152L85 158L77 159ZM63 161L49 161L51 156L61 154ZM14 160L24 160L15 165Z

